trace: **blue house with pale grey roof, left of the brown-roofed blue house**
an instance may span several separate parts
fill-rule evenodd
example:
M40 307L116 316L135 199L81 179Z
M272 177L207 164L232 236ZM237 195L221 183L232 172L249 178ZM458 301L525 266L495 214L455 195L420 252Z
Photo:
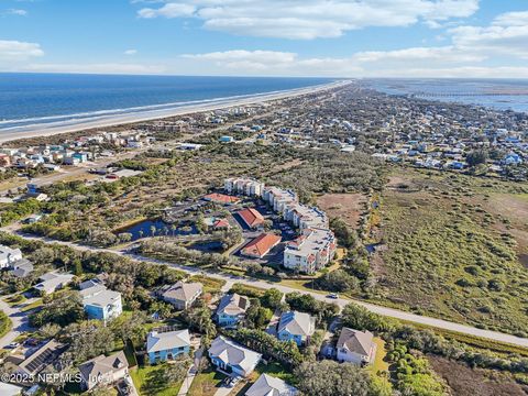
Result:
M146 338L146 354L151 364L174 360L190 352L189 330L153 330Z

